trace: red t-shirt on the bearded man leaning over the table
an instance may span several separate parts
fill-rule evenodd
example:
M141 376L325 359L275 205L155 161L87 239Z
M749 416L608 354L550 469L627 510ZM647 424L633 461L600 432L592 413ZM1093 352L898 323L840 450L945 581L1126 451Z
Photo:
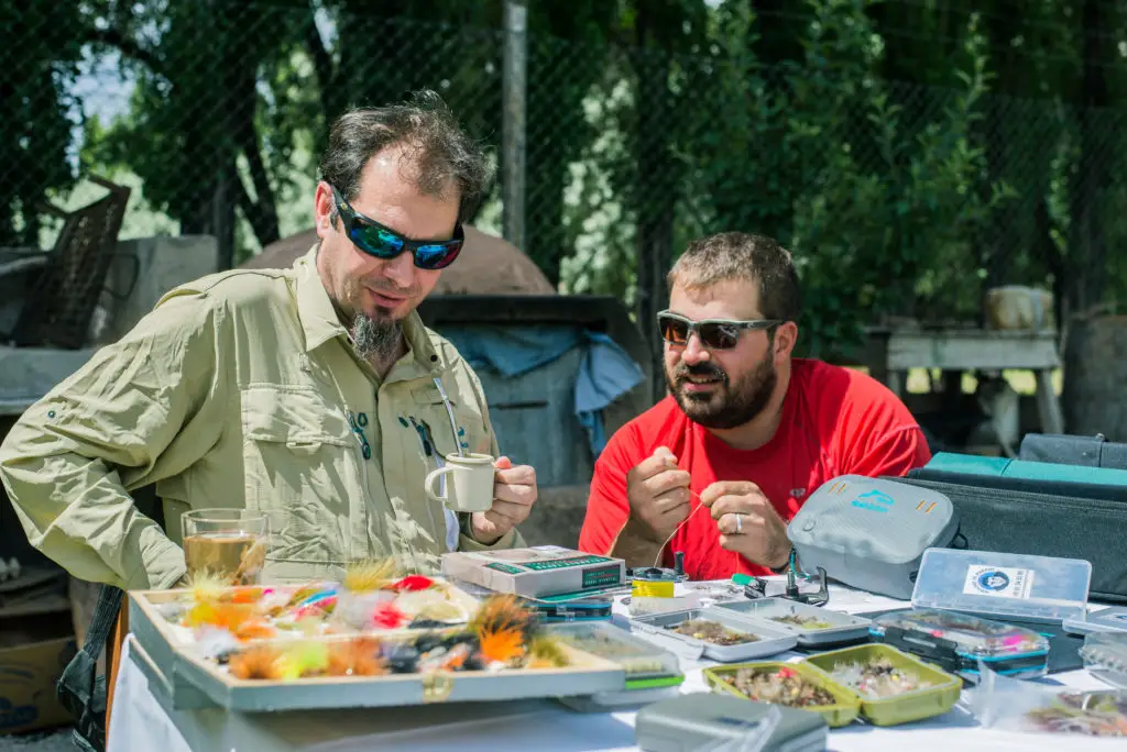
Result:
M595 463L580 550L610 550L630 513L627 473L660 446L689 471L696 494L716 481L751 481L784 521L834 477L902 476L931 459L920 426L884 384L857 370L795 358L779 430L758 449L728 446L689 420L672 396L619 429ZM727 579L735 572L770 574L720 548L716 521L699 507L693 496L689 521L665 547L665 566L672 566L673 553L681 550L693 580Z

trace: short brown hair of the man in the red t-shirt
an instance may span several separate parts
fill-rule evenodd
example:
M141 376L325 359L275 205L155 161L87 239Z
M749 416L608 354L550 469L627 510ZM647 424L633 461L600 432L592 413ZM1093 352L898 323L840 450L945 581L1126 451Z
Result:
M728 279L760 286L764 319L798 321L802 295L795 262L778 241L746 232L721 232L689 243L669 270L669 287L711 287Z

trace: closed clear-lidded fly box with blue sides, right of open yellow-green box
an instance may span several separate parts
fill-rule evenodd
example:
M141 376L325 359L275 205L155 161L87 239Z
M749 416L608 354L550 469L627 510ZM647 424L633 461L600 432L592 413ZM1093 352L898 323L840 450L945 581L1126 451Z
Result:
M1024 627L923 609L879 616L869 632L877 642L971 681L977 681L979 661L997 673L1020 679L1048 673L1048 639Z

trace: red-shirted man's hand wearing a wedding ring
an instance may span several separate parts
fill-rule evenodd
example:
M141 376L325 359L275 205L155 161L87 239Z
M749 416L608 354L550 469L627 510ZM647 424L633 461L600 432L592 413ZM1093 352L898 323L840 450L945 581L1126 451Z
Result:
M720 547L748 561L779 569L790 557L787 523L749 481L718 481L701 493L720 530Z

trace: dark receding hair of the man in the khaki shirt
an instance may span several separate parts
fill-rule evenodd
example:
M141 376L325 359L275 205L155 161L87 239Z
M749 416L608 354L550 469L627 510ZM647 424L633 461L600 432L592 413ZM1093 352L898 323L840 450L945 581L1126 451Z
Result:
M337 118L321 155L321 179L355 200L364 165L389 146L410 150L423 194L442 196L452 181L458 186L459 222L473 216L492 182L485 151L428 89L412 93L409 104L353 109Z

